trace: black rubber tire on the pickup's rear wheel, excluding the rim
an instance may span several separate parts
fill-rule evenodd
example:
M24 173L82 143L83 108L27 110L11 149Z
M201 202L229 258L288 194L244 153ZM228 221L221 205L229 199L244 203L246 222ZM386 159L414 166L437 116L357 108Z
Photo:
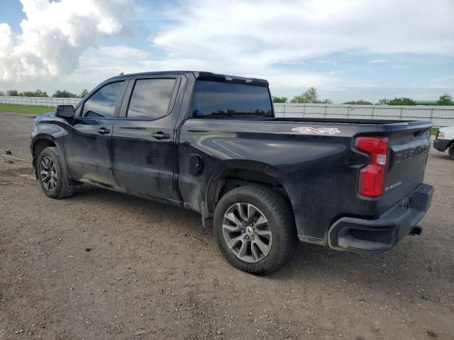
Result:
M269 245L269 252L266 255L264 253L261 254L265 257L260 259L260 261L253 263L250 261L243 261L238 254L234 253L228 246L228 242L231 241L231 239L226 239L224 236L225 229L223 227L223 222L225 222L225 215L228 214L229 211L233 211L231 208L236 205L236 203L253 205L254 208L260 210L260 212L258 212L259 215L262 213L267 220L267 229L270 229L271 231L272 242L270 242ZM239 223L237 223L237 225L239 225ZM253 230L255 231L255 228ZM250 230L250 232L253 231ZM275 193L272 189L262 186L240 186L228 191L222 196L218 205L216 205L216 210L214 212L214 233L216 242L226 260L235 268L255 275L265 275L284 266L294 256L297 246L297 229L294 224L291 208L279 193ZM238 235L243 235L241 233L245 234L244 229L241 229L241 232L238 232ZM258 236L258 234L255 235L255 237ZM250 239L252 242L253 237L251 236ZM243 240L240 240L240 242L241 246L243 246ZM232 243L235 242L231 242L231 244ZM253 247L253 245L250 245L250 247ZM255 251L257 252L257 248L255 248ZM238 253L240 252L241 251L238 251ZM253 255L253 257L259 259L258 256Z

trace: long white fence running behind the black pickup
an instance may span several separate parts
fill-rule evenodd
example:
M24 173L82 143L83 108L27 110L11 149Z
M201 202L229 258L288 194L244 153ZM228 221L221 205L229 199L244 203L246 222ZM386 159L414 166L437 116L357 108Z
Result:
M57 106L74 105L80 98L42 98L0 96L0 103ZM433 125L454 126L454 106L389 106L343 104L275 103L277 117L282 118L358 118L431 120Z

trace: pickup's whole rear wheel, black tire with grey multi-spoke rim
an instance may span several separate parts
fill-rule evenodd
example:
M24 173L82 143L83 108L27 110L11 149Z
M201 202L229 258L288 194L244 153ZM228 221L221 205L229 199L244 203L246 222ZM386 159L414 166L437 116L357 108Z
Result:
M219 200L214 232L226 260L257 275L284 266L297 244L289 205L278 193L259 186L240 186Z

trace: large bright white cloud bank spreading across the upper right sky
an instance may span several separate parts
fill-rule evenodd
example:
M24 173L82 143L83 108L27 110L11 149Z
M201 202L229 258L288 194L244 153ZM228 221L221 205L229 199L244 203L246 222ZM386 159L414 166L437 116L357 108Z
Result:
M265 77L287 89L348 86L334 74L276 64L338 52L454 55L453 15L452 0L196 0L167 11L174 24L153 39L167 57L146 65Z

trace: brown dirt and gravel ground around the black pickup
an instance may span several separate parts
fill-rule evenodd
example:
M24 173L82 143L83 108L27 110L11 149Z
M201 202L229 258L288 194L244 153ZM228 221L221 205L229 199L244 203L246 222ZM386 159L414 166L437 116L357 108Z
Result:
M255 277L223 260L194 212L95 188L47 198L31 168L33 117L0 120L2 340L454 339L446 154L431 149L421 236L384 254L299 244L289 266Z

